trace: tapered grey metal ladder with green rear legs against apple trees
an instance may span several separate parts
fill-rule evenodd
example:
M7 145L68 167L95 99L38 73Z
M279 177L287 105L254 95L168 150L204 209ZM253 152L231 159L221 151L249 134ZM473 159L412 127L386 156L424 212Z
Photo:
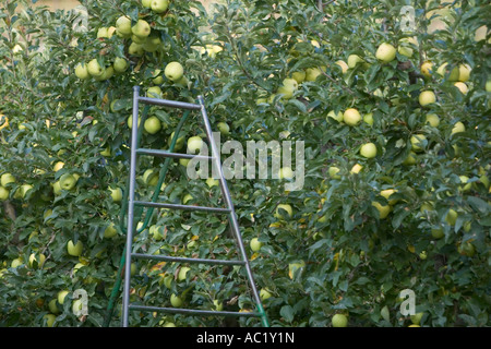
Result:
M129 312L130 311L140 311L140 312L163 312L163 313L175 313L175 314L185 314L185 315L205 315L205 316L243 316L243 317L260 317L262 325L265 327L268 327L268 321L267 316L265 314L264 308L262 305L261 297L258 292L253 274L251 270L251 266L249 264L248 255L246 253L246 249L242 242L242 238L239 230L239 224L237 220L236 212L233 208L233 204L230 197L230 192L227 185L227 182L225 180L219 153L216 147L216 143L213 137L212 128L209 124L209 120L206 113L206 109L204 106L204 100L202 96L197 97L199 104L192 104L192 103L183 103L183 101L176 101L176 100L168 100L168 99L160 99L160 98L152 98L152 97L143 97L140 96L140 87L134 86L133 87L133 112L132 112L132 129L131 129L131 148L130 148L130 177L129 177L129 183L127 185L127 192L125 197L128 197L128 201L124 200L123 202L127 202L128 205L128 217L127 217L127 243L125 249L123 251L123 255L121 256L121 263L120 263L120 273L118 273L118 277L124 279L123 285L123 294L122 294L122 326L128 327L129 326ZM171 140L169 151L161 151L161 149L148 149L148 148L141 148L139 147L139 139L142 134L143 129L143 118L141 121L139 121L139 107L140 103L145 104L145 110L144 115L148 111L148 108L151 105L154 106L161 106L161 107L169 107L169 108L179 108L184 109L184 113L176 129L175 136ZM192 154L181 154L181 153L173 153L173 148L177 142L177 139L179 137L179 131L182 124L184 123L185 119L189 116L190 111L193 110L200 110L202 115L202 121L205 129L206 137L209 142L209 148L211 148L211 156L203 156L203 155L192 155ZM142 127L139 129L139 122L142 123ZM158 183L155 186L155 192L152 197L152 202L144 202L144 201L136 201L135 200L135 181L136 181L136 166L137 166L137 156L139 155L146 155L146 156L154 156L154 157L164 157L166 158L164 166L160 170L160 177L158 180ZM218 181L219 181L219 188L221 191L221 195L225 200L225 208L220 207L207 207L207 206L194 206L194 205L181 205L181 204L170 204L170 203L158 203L156 200L158 198L159 189L164 182L165 174L167 172L169 163L171 159L176 158L185 158L191 159L194 157L201 157L206 160L212 161L212 166L215 167L216 173L218 174ZM215 173L215 172L214 172ZM136 229L136 225L134 221L135 215L139 213L137 209L143 209L143 207L147 207L147 214L145 217L145 221L142 227ZM122 207L124 209L125 207ZM132 243L133 243L133 237L134 233L141 232L143 229L146 228L146 225L149 221L149 218L152 216L153 209L181 209L181 210L201 210L201 212L207 212L207 213L216 213L216 214L226 214L228 215L228 222L231 228L232 236L235 238L236 244L239 249L241 258L238 258L236 261L233 260L214 260L214 258L196 258L196 257L178 257L178 256L169 256L169 255L155 255L155 254L144 254L144 253L135 253L132 250ZM141 212L141 210L140 210ZM120 225L122 226L122 219L120 221ZM148 305L140 305L140 304L132 304L130 302L130 291L131 291L131 263L133 258L143 258L143 260L154 260L159 262L179 262L179 263L199 263L199 264L209 264L209 265L231 265L231 266L240 266L246 268L246 274L248 281L250 284L250 289L252 292L252 298L255 301L256 311L251 312L232 312L232 311L218 311L218 310L200 310L200 309L183 309L183 308L164 308L164 306L148 306ZM112 294L111 300L109 303L109 309L107 316L110 317L112 313L112 306L115 301L115 296L118 292L119 286L121 280L117 280ZM106 323L108 324L108 321L110 318L106 318Z

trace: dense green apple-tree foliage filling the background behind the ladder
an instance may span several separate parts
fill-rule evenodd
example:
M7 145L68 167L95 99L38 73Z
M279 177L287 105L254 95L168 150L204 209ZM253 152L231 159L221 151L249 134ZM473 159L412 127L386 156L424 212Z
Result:
M272 325L331 326L340 313L349 326L408 326L406 289L421 326L490 324L488 1L228 0L209 13L196 1L170 1L163 13L145 2L83 0L86 21L26 0L0 2L0 176L15 178L0 188L1 325L41 326L47 314L56 326L103 325L125 242L124 207L109 189L125 191L134 85L142 94L158 86L168 99L203 95L213 128L230 127L221 142L304 142L302 190L285 191L285 179L229 181L256 285L271 293ZM409 32L404 5L415 10ZM146 21L160 44L118 35L121 16ZM131 47L139 39L146 46ZM395 49L387 62L383 43ZM106 74L75 74L94 60ZM127 63L121 72L118 60ZM184 69L177 82L164 74L176 61ZM430 104L420 99L428 91ZM148 116L161 129L144 132L143 145L168 148L182 112L151 108ZM180 152L190 136L204 137L200 127L191 116ZM360 153L368 143L374 156ZM149 170L161 166L142 157L140 197L151 197ZM73 189L59 186L67 178ZM187 179L177 160L165 184L161 202L223 204L218 186ZM291 216L277 212L280 204ZM135 245L237 257L224 218L155 212ZM254 238L259 251L249 249ZM83 243L81 255L68 253L70 240ZM135 262L132 301L166 306L175 293L187 308L253 306L241 270L184 267ZM88 296L86 316L72 311L79 289ZM51 302L62 290L70 301ZM111 325L120 324L119 309ZM131 323L223 320L133 312Z

